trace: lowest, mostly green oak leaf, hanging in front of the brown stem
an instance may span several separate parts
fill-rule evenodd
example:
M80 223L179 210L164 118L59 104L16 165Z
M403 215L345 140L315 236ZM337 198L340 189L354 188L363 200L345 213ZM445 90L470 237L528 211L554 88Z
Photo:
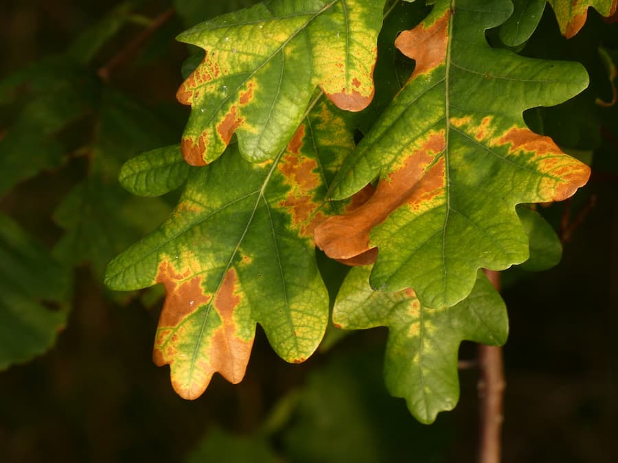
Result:
M452 307L430 309L411 289L374 291L369 267L353 268L333 309L343 329L388 327L384 375L393 396L403 397L421 423L433 423L439 412L459 400L457 354L462 340L501 345L508 320L500 295L479 270L468 298Z

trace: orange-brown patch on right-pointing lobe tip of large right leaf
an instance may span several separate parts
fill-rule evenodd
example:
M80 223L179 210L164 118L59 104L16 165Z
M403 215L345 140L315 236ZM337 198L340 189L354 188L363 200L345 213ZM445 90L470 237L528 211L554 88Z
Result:
M551 178L541 181L541 202L570 198L590 178L590 167L564 154L549 136L536 134L527 128L512 128L498 143L510 144L510 153L533 152L538 170L551 175Z

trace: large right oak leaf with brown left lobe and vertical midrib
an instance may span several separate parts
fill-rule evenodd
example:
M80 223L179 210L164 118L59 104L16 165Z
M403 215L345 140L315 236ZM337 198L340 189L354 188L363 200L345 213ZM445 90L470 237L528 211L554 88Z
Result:
M491 49L485 29L511 12L506 0L458 1L455 10L439 1L398 37L415 71L346 158L331 192L346 198L379 176L376 193L315 235L337 259L377 247L373 287L413 287L423 305L455 305L470 294L477 269L527 259L516 204L563 200L588 179L586 165L522 117L582 91L586 72Z

